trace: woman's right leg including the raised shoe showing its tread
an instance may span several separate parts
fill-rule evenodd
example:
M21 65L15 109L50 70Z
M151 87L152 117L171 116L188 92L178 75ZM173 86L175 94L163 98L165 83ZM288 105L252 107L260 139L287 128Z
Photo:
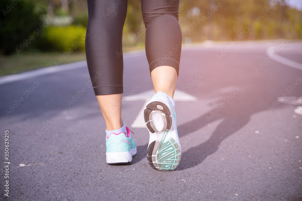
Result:
M181 158L173 100L182 45L178 5L179 0L142 0L146 55L156 92L144 110L150 134L147 159L162 171L174 170Z

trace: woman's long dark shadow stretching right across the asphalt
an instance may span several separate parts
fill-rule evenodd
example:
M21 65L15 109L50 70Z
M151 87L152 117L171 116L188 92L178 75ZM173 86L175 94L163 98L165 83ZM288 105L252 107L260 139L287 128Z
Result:
M297 73L296 75L299 75L300 72L297 71ZM276 102L277 97L283 93L286 93L287 96L299 96L299 93L302 91L302 84L297 86L290 94L286 91L287 86L295 82L296 75L292 74L291 78L289 78L289 76L287 79L282 79L282 81L280 80L280 71L266 71L260 75L242 74L240 77L232 77L231 82L236 83L232 85L234 87L239 86L242 90L235 95L229 103L223 101L223 98L230 95L230 93L220 94L218 97L221 96L223 98L220 102L214 102L213 105L220 105L220 103L223 102L225 103L225 107L223 107L214 118L209 119L209 121L207 120L207 116L210 117L210 113L216 109L215 107L206 114L178 126L178 135L179 137L183 137L207 126L209 123L222 120L206 142L191 147L182 153L181 162L175 170L181 171L199 165L204 159L219 149L218 146L224 139L243 127L246 127L246 129L244 129L244 131L246 131L248 126L257 126L249 124L251 116L261 111L268 111L268 106L272 107L272 102ZM246 76L246 79L242 79L244 76ZM212 86L210 90L223 88L220 82L207 83L207 85ZM210 93L210 91L207 90L204 91L204 93L207 94ZM285 106L285 104L281 103L276 109L278 110ZM292 107L295 108L295 106ZM252 132L254 132L254 130ZM221 152L221 154L223 154L223 152ZM221 160L220 157L217 157L217 160Z

